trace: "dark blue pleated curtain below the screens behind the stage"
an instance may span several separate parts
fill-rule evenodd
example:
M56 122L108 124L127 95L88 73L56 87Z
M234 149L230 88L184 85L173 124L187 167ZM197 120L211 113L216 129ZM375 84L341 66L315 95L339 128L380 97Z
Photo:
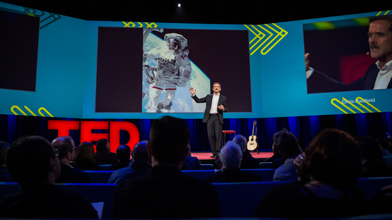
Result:
M39 135L52 141L57 137L56 130L47 129L48 120L71 120L71 121L128 121L138 128L140 141L149 140L150 128L153 119L74 119L35 117L24 115L0 115L0 141L12 143L16 139L26 135ZM236 134L248 139L252 135L252 125L256 121L258 143L260 150L271 149L275 132L287 128L300 141L301 147L305 148L317 133L325 128L338 128L350 133L354 137L371 136L385 137L385 133L392 133L392 112L375 112L363 114L343 115L314 115L298 117L278 118L245 118L224 119L223 130L234 130ZM192 151L210 151L207 128L201 119L185 119L189 126L191 137L189 144ZM93 133L109 133L109 130L93 130ZM80 130L71 130L75 144L80 143ZM226 135L226 141L232 139ZM129 133L120 132L120 144L129 141Z

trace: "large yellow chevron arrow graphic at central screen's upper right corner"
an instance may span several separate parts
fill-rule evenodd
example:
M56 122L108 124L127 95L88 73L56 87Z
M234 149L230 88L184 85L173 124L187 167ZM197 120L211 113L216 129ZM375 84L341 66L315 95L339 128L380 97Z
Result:
M246 25L244 24L244 26L249 29L250 32L252 32L255 37L249 42L249 45L253 43L254 40L258 39L255 43L253 43L252 46L250 46L249 50L252 50L253 47L255 47L256 45L258 45L258 43L265 37L268 35L267 38L265 38L265 40L263 42L261 42L260 45L258 45L258 47L256 47L256 49L254 49L252 52L250 52L250 55L254 54L254 52L256 52L256 50L258 50L261 46L263 46L268 40L270 40L270 38L272 38L272 36L274 36L274 34L276 34L270 41L267 42L267 44L265 44L265 46L263 47L263 49L261 49L261 54L265 55L267 54L273 47L275 47L275 45L277 43L279 43L280 40L282 40L286 35L287 35L287 31L283 30L281 27L279 27L278 25L272 23L272 25L274 25L275 27L277 27L279 30L277 31L276 29L274 29L273 27L271 27L268 24L264 24L265 27L263 27L262 25L256 25L257 28L254 25ZM252 28L251 28L252 27ZM256 32L257 33L256 33ZM266 32L266 33L264 33ZM260 36L260 34L262 36ZM278 39L277 39L278 38ZM272 46L269 47L269 45L271 43L274 44ZM267 49L268 48L268 49Z

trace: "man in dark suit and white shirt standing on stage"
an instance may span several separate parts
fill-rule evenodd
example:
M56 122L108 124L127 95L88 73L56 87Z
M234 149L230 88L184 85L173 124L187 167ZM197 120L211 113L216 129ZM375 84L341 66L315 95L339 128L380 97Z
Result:
M212 150L211 158L219 156L219 152L222 146L223 112L227 112L228 110L226 97L220 94L220 84L214 83L214 85L212 85L212 89L214 90L214 94L207 95L201 99L195 95L197 89L189 89L194 101L197 103L206 103L203 122L207 122L208 139L210 140L210 146ZM214 139L214 132L216 141Z

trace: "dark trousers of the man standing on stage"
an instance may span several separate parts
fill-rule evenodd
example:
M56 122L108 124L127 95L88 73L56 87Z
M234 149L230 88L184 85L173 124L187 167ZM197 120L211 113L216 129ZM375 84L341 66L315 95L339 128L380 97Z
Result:
M214 131L216 141L214 139ZM219 155L222 148L222 125L219 123L218 115L210 115L207 121L208 139L213 155Z

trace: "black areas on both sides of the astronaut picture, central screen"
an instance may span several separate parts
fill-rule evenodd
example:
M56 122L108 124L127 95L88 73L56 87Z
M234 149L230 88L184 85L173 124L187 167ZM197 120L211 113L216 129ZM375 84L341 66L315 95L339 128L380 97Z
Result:
M96 112L142 112L142 31L99 27ZM189 59L210 78L211 93L212 83L219 82L229 112L252 112L248 31L164 28L152 33L162 39L168 33L183 35Z

